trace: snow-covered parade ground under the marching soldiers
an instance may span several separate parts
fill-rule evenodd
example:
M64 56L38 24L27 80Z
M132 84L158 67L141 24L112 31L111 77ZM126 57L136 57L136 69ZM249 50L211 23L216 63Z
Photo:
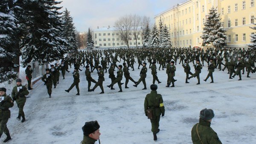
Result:
M137 81L140 69L137 69L137 63L134 66L135 71L130 69L130 73ZM196 85L196 78L190 79L190 84L185 84L186 75L182 66L176 67L174 88L165 87L166 71L157 70L157 76L162 81L157 84L157 92L163 96L166 109L165 116L160 119L157 141L153 141L151 123L144 114L143 105L145 95L151 91L151 69L147 72L147 90L142 90L142 83L137 88L132 86L131 81L128 83L129 89L122 85L123 92L118 92L117 84L114 85L115 90L111 90L107 87L111 80L105 73L105 94L99 94L99 87L94 92L87 92L83 68L80 72L79 96L75 87L69 93L64 91L73 82L70 72L66 73L64 80L60 76L60 84L52 89L52 98L48 98L46 86L41 81L33 86L35 89L30 91L31 98L27 99L24 107L24 123L16 120L17 105L11 108L12 114L7 124L12 136L9 144L80 144L83 138L81 127L86 121L93 120L99 121L102 144L191 144L191 129L204 108L214 110L215 118L211 127L223 144L256 143L255 74L250 74L251 78L242 75L242 81L237 81L238 76L229 79L227 69L225 72L215 69L215 83L210 84L210 78L207 82L203 81L208 74L204 66L200 75L201 85ZM70 70L73 71L73 68ZM96 71L92 77L97 81ZM125 82L124 77L122 82ZM4 138L6 135L3 134L0 141Z

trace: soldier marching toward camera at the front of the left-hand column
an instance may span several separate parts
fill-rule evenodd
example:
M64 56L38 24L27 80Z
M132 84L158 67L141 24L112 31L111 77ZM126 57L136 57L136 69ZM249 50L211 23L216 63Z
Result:
M46 85L49 98L51 98L52 97L52 79L54 79L54 76L50 73L50 69L45 69L45 71L46 71L46 74L44 74L41 79L42 81L44 81L44 85Z

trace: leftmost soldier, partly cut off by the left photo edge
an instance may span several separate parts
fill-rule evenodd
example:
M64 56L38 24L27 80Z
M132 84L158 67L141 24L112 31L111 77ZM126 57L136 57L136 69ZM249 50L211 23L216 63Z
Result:
M12 98L9 95L6 95L6 88L0 88L0 138L3 135L3 132L7 135L3 142L12 139L6 124L8 119L11 118L11 111L9 108L13 107L13 105Z

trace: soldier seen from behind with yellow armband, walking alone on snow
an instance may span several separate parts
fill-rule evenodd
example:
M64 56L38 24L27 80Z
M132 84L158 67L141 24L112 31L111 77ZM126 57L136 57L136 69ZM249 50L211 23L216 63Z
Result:
M150 89L152 91L149 94L147 94L145 97L144 112L146 116L148 116L148 112L150 112L148 109L151 109L153 112L153 117L150 119L150 122L151 122L151 131L153 132L153 135L154 135L154 141L156 141L157 133L160 131L159 129L160 115L162 114L162 117L164 116L165 109L163 105L162 95L157 94L157 85L152 84L150 86Z

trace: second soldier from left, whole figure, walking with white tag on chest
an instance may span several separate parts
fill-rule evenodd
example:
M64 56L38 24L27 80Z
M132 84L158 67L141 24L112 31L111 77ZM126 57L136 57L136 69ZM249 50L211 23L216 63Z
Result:
M12 89L12 99L13 101L16 101L16 104L19 108L19 114L17 117L17 120L20 121L20 116L22 117L21 122L23 123L25 119L25 114L23 111L23 107L26 103L26 95L29 94L29 91L26 89L26 86L22 86L21 79L16 79L16 86Z

